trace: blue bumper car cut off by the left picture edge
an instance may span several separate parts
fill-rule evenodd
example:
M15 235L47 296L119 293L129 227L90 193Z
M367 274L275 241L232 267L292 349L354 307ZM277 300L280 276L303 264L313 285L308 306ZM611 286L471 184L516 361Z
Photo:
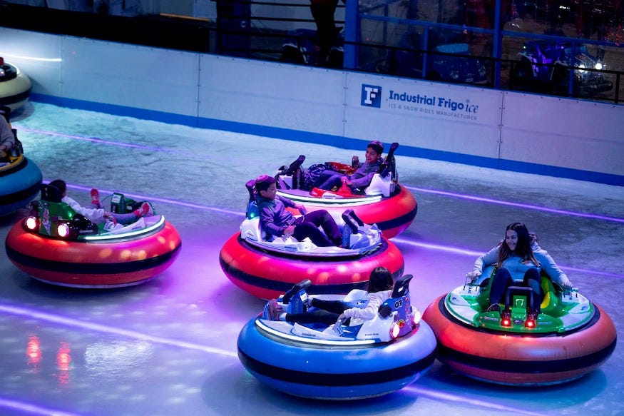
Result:
M41 170L24 156L24 148L17 138L11 153L0 158L0 215L6 215L26 206L39 193L43 177Z

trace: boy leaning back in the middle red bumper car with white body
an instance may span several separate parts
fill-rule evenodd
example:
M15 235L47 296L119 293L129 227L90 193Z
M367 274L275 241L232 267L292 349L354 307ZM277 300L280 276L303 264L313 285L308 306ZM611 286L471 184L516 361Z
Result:
M310 238L318 247L342 244L342 231L327 210L316 210L295 217L286 208L304 210L288 198L277 195L275 178L268 175L255 180L256 202L260 212L260 226L272 237L288 238L292 235L297 240ZM321 227L323 230L319 230Z

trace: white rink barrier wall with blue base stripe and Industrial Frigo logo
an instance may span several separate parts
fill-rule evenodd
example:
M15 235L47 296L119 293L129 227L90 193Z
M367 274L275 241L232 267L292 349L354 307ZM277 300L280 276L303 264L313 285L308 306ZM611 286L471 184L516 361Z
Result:
M624 106L0 28L31 99L624 186Z

